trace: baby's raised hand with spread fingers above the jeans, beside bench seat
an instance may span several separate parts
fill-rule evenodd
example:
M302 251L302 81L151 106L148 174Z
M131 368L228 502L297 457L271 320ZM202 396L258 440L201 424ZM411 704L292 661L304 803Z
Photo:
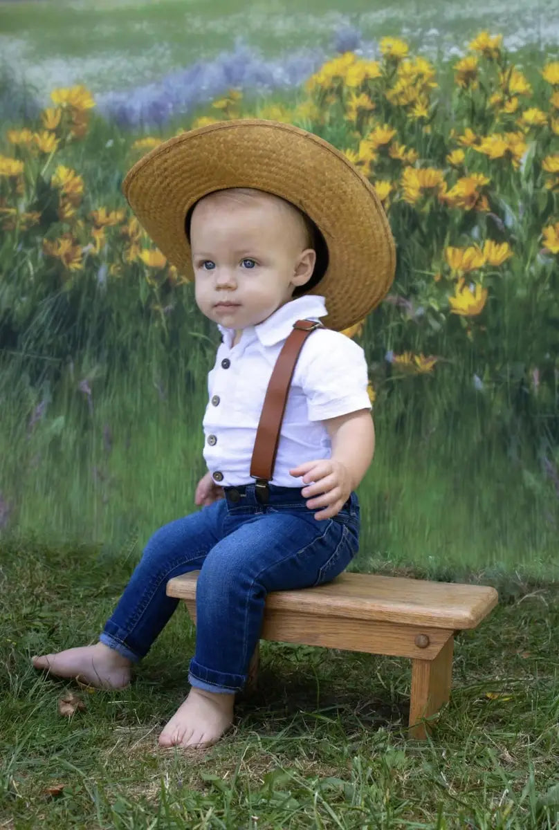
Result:
M324 507L315 513L315 519L331 519L339 513L343 505L349 499L352 491L350 472L341 461L334 461L332 458L321 458L318 461L305 461L298 467L289 471L296 478L303 476L303 484L309 481L316 482L310 487L302 489L303 496L317 496L319 498L306 502L309 510L315 507Z

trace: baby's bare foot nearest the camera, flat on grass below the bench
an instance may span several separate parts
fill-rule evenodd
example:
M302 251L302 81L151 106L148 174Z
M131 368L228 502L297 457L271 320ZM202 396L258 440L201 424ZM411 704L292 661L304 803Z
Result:
M211 746L233 723L233 694L193 686L189 696L159 735L161 746Z

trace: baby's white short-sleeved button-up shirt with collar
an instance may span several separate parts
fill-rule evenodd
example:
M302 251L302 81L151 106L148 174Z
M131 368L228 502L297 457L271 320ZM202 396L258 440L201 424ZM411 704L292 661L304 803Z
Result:
M203 457L219 486L254 484L250 476L254 442L277 357L296 320L319 320L326 314L323 296L297 297L267 320L244 329L235 346L234 330L218 324L223 343L208 373ZM308 335L287 395L271 484L304 486L302 476L291 476L289 470L305 461L331 457L330 436L322 422L371 409L367 385L360 345L331 329L316 329Z

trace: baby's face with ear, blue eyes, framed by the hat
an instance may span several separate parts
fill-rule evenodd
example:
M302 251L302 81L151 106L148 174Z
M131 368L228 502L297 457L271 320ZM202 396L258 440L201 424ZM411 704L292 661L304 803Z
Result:
M199 309L235 330L262 323L289 302L294 288L310 280L316 261L297 211L255 190L200 200L190 242ZM218 305L223 302L235 305Z

